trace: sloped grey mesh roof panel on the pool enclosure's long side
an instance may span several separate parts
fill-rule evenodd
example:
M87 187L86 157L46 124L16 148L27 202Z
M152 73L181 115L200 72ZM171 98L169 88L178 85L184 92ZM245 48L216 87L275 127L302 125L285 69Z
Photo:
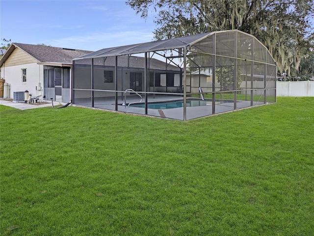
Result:
M138 43L120 47L105 48L76 59L91 59L100 57L113 57L122 55L131 55L145 52L156 52L169 49L183 48L184 46L191 45L200 39L207 37L211 32L201 33L196 35L189 35L180 38L171 38L165 40L158 40L148 43ZM76 60L73 59L73 60Z

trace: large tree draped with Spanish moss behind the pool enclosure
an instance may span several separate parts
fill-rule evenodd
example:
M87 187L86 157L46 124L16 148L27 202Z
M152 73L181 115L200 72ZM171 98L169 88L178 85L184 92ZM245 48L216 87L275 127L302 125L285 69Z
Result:
M313 0L128 0L146 18L157 12L155 38L239 29L259 39L281 72L298 68L311 47Z

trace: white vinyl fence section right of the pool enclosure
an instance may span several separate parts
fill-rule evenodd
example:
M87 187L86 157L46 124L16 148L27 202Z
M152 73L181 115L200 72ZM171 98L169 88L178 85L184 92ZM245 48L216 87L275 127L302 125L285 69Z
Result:
M277 96L313 97L314 81L278 81Z

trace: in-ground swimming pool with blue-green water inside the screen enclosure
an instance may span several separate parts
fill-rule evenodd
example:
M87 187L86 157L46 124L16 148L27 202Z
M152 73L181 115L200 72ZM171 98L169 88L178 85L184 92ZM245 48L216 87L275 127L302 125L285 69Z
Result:
M210 101L203 100L186 100L186 107L199 107L211 105ZM141 107L144 108L144 103L131 104L130 107ZM180 101L167 101L167 102L154 102L148 103L147 108L149 109L171 109L183 107L183 100Z

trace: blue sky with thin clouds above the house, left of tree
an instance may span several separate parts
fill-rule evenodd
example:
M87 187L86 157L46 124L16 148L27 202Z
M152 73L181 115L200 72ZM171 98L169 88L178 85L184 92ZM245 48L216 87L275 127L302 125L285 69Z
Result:
M153 41L152 13L143 19L125 0L0 0L0 37L97 51Z

